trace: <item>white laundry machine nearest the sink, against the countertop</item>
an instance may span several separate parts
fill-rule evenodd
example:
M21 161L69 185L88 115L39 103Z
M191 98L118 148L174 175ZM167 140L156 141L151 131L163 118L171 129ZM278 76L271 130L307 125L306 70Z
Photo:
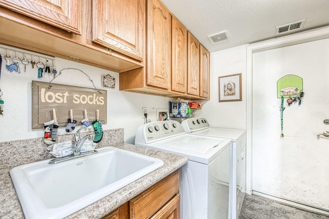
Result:
M141 125L135 144L188 157L180 170L180 218L231 218L232 143L185 133L174 120Z

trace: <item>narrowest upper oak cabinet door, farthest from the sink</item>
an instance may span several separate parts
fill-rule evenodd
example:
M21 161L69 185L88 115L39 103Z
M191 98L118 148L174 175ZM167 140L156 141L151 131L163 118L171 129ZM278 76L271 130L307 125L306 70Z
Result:
M209 99L210 53L200 45L200 97Z

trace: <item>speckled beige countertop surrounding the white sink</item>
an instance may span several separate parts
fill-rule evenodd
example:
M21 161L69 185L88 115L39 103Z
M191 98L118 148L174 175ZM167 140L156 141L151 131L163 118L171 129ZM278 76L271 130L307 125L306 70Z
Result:
M101 218L181 166L184 166L188 161L187 157L184 156L160 152L133 144L117 143L111 146L161 159L164 164L157 170L69 215L67 218ZM0 218L24 218L19 199L9 175L11 169L12 167L0 169Z

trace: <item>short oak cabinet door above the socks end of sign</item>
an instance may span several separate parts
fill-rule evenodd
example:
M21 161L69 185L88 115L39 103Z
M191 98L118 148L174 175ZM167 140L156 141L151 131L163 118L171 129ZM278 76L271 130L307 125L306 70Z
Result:
M145 0L94 0L93 41L142 61Z

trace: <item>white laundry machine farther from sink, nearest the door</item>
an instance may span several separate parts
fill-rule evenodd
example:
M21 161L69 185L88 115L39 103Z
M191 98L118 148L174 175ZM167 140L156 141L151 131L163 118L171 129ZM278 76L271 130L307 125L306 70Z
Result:
M246 194L246 131L210 127L208 120L202 117L189 118L181 122L186 133L198 136L228 138L232 142L232 218L239 218ZM235 172L235 173L234 173ZM236 188L236 190L234 189ZM235 194L235 195L234 195Z

